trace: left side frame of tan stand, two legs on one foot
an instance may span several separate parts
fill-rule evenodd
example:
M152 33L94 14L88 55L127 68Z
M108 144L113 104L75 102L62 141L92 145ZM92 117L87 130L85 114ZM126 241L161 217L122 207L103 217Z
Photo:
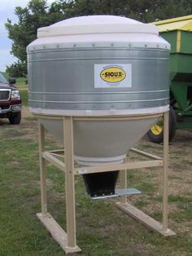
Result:
M51 236L59 243L66 254L81 252L76 245L76 209L75 209L75 185L74 185L74 161L73 161L73 129L72 117L63 117L63 135L65 150L65 164L59 161L53 152L45 152L45 132L44 127L39 121L39 155L40 155L40 173L41 173L41 213L37 217L44 224ZM49 160L48 160L49 159ZM67 233L47 213L46 210L46 165L45 161L50 161L54 166L65 169L66 186L66 215L67 215ZM59 166L61 162L61 166ZM66 168L65 168L66 166ZM64 168L64 169L63 169Z

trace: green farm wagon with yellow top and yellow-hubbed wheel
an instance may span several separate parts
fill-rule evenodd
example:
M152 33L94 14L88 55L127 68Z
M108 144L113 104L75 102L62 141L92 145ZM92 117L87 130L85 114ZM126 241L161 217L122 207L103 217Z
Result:
M192 15L154 23L171 44L169 140L176 129L192 128ZM155 143L163 141L163 120L147 133Z

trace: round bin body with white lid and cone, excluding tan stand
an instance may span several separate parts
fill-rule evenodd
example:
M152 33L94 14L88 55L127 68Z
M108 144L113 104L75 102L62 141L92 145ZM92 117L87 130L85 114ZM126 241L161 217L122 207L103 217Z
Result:
M113 15L76 17L38 29L27 52L30 110L58 141L63 120L55 117L141 116L74 122L79 165L123 162L154 114L168 110L169 44L154 25Z

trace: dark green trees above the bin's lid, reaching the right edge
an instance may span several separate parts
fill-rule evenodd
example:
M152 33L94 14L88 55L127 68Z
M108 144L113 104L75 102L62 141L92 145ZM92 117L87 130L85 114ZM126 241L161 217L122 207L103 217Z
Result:
M190 15L192 0L70 0L63 7L65 18L96 14L123 15L148 23Z

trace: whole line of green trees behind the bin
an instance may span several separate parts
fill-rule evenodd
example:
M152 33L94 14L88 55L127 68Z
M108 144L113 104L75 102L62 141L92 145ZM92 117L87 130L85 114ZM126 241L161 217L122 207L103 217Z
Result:
M31 0L24 8L15 7L18 23L5 24L12 40L11 54L18 61L7 66L13 77L27 74L26 46L37 38L37 29L80 15L121 15L144 23L190 15L192 0Z

